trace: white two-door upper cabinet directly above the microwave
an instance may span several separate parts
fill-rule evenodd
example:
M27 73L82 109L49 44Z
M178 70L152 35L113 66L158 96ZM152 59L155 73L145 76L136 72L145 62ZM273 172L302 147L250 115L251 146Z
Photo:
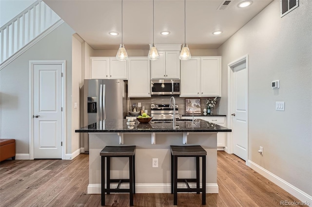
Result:
M159 50L158 53L159 59L151 60L152 79L180 79L180 51Z

